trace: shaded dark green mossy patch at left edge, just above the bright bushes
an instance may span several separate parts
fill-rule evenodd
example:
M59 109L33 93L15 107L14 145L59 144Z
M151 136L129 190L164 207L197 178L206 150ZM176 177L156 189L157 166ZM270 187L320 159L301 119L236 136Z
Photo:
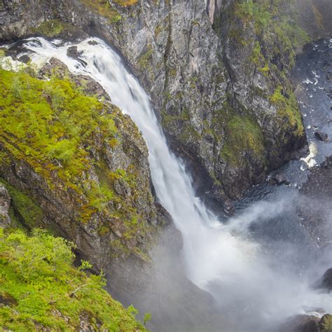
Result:
M17 218L22 219L22 223L29 228L40 225L43 220L43 212L41 207L39 207L39 205L36 204L32 198L29 198L27 194L22 191L18 191L1 177L0 184L6 186L9 195L11 195L11 219L13 219L14 222Z

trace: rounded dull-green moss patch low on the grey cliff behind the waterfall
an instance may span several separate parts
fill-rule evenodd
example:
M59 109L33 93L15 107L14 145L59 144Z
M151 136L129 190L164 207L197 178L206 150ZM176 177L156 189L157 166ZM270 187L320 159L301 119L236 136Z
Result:
M261 160L265 151L263 132L258 124L248 116L233 116L226 125L225 143L221 158L238 166L247 153L253 153Z

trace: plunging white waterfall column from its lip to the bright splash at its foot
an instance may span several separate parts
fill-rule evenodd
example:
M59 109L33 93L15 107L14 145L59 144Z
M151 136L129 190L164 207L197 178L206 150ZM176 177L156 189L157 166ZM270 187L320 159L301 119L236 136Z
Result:
M221 260L228 261L225 263L229 265L234 263L235 256L239 260L237 266L243 268L249 258L246 251L254 251L255 246L249 249L251 244L244 244L230 233L218 230L221 224L202 201L195 197L191 178L184 165L167 147L165 136L144 89L109 46L99 39L93 39L97 41L97 45L92 46L88 43L89 40L77 45L86 66L67 56L68 46L57 47L55 43L44 39L38 39L39 43L36 43L36 39L33 39L27 43L27 48L35 52L32 55L35 63L57 57L73 73L94 78L108 92L113 104L122 109L123 113L129 114L137 124L148 145L148 161L158 199L184 236L184 261L188 277L195 284L204 287L216 275L222 274L224 264ZM243 250L246 245L248 248Z

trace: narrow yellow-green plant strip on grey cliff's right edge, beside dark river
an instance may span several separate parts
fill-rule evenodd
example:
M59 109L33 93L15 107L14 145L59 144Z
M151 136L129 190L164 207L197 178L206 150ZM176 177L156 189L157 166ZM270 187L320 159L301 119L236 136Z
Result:
M294 134L301 137L304 128L300 116L300 109L298 109L298 102L293 92L290 92L289 97L286 97L282 93L282 87L279 86L270 97L270 102L277 106L278 115L282 119L280 123L283 123L283 125L290 125ZM286 121L284 121L285 119Z

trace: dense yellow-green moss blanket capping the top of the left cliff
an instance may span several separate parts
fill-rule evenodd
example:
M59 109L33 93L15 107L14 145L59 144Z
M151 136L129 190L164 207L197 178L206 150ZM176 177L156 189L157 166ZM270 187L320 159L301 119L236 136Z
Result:
M0 108L0 145L7 158L25 160L50 189L59 179L57 189L71 188L78 196L97 186L86 179L90 146L99 134L111 145L117 134L113 115L101 102L66 79L40 81L1 70ZM109 198L104 190L98 195ZM90 206L95 207L92 198Z

